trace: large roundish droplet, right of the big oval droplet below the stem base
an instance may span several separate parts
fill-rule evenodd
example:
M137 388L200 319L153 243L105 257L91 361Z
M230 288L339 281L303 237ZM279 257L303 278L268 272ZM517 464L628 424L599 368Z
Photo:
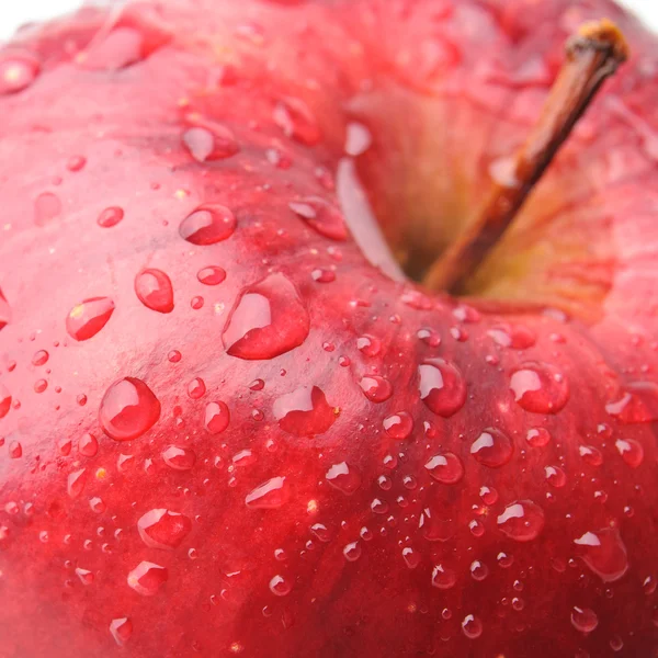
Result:
M533 413L557 413L569 399L569 385L553 365L530 362L518 367L511 377L514 399Z

